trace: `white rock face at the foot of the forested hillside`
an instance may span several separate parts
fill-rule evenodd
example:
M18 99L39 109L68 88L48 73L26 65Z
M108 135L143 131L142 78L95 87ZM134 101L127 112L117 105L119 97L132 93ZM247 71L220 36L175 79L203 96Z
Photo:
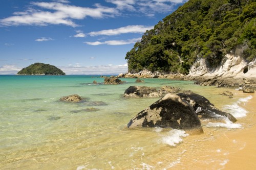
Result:
M237 48L234 53L225 55L221 64L215 69L209 68L204 58L197 58L188 76L256 78L256 59L247 63L241 57L241 51Z

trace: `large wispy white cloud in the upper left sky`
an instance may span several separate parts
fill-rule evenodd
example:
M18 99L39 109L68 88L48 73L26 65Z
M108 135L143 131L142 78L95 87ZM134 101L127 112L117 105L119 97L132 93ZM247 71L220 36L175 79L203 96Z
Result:
M113 16L114 8L96 4L96 8L79 7L68 4L69 1L31 2L30 8L23 12L15 12L13 16L0 20L0 26L48 26L67 25L77 27L73 19L84 19L87 16L103 18Z

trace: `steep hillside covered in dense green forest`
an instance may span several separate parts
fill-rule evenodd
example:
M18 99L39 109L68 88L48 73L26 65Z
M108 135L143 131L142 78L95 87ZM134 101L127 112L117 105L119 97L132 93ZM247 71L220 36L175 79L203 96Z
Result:
M190 0L146 31L127 52L129 72L187 74L197 56L215 67L237 45L256 56L256 0Z

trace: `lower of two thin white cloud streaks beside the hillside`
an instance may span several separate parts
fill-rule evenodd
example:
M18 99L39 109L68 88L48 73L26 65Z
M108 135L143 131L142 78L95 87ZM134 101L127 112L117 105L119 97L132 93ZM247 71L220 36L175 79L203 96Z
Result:
M110 40L110 41L95 41L95 42L84 42L88 45L102 45L102 44L107 44L107 45L126 45L126 44L133 44L137 41L141 40L141 38L133 38L133 39L128 39L128 40Z

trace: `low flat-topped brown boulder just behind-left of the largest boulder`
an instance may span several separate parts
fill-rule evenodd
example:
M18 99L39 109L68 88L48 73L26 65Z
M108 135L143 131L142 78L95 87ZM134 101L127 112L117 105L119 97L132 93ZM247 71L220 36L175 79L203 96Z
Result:
M124 91L123 96L133 98L151 98L159 97L160 94L155 87L130 86Z

